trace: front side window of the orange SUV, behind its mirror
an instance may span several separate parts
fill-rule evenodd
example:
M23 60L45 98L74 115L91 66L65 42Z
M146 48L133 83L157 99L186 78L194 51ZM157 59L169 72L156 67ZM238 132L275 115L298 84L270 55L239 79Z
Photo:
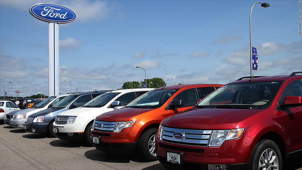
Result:
M191 88L180 92L177 96L174 97L173 100L182 100L184 104L182 107L188 107L195 106L198 99L199 96L196 88Z

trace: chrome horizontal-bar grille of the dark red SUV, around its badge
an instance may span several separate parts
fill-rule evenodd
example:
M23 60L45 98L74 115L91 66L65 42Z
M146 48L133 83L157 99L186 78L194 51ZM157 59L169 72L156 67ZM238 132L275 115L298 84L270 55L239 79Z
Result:
M183 139L176 139L173 133L182 132L185 134ZM161 140L169 143L191 146L207 146L212 130L194 130L163 127Z

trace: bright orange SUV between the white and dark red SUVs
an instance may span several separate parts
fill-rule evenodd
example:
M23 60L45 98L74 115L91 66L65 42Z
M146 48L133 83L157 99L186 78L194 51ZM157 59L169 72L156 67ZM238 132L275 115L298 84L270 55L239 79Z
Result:
M162 119L196 105L220 84L188 84L151 90L124 109L95 118L91 139L96 149L131 155L137 149L143 158L157 160L156 132Z

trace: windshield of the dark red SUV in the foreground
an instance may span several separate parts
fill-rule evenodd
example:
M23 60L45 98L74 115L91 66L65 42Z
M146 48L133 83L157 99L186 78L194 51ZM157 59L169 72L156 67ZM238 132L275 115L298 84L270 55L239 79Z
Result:
M227 84L204 98L195 107L265 109L267 108L282 81L261 81Z

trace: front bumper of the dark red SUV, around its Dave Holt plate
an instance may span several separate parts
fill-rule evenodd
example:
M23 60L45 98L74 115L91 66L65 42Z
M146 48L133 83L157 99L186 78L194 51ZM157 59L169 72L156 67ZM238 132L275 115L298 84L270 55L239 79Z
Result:
M211 165L227 165L226 170L246 169L255 141L245 134L239 139L225 141L220 147L201 147L162 142L156 139L156 154L167 168L194 169ZM182 165L166 161L166 152L182 154ZM207 168L206 168L207 169Z

